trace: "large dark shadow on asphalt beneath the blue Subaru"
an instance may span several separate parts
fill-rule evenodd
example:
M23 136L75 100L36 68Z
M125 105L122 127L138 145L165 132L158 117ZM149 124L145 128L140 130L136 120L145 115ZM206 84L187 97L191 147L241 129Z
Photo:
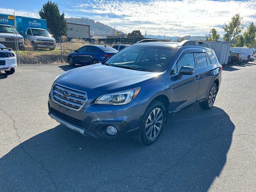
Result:
M234 128L224 110L198 105L171 116L150 146L98 140L58 125L0 159L0 189L204 192L226 163Z

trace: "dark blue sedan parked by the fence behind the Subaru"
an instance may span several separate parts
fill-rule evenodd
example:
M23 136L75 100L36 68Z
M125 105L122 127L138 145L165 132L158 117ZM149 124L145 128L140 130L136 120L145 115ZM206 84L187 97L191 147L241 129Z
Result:
M86 45L68 55L68 64L96 64L114 55L118 50L102 45Z

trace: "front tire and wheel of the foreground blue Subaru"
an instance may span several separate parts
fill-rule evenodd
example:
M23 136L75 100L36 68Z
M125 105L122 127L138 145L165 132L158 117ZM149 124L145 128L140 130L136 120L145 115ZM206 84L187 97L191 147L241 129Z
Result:
M165 120L164 104L158 100L153 101L146 109L139 133L133 139L142 145L154 143L162 132Z

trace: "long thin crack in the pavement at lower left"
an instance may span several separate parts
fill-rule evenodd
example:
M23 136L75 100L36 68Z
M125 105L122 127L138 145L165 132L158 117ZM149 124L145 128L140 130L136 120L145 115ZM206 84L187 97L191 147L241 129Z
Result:
M20 143L19 146L20 146L20 147L22 148L22 150L30 157L31 160L34 160L34 161L36 161L38 164L40 164L40 166L42 167L42 169L43 169L44 171L46 171L46 173L49 175L50 181L53 183L54 188L57 190L58 188L57 188L55 182L54 182L54 181L52 180L52 178L51 178L50 171L48 171L48 170L44 167L44 165L42 164L42 162L40 162L40 161L38 161L36 158L34 158L34 157L26 150L26 148L24 148L24 146L22 145L21 138L20 138L20 136L19 136L19 134L18 134L18 129L16 128L16 125L15 125L15 120L14 120L14 118L12 118L12 116L11 116L10 114L8 114L5 110L3 110L3 109L1 109L1 108L0 108L0 110L1 110L2 112L4 112L4 114L6 114L6 115L12 120L12 122L13 122L13 128L14 128L14 130L16 131L16 136L18 137L18 141L19 141L19 143Z

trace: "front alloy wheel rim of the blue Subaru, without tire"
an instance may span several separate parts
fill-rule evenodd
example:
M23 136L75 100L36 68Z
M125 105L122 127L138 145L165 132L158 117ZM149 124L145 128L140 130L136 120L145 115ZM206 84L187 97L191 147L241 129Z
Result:
M160 108L155 108L146 120L145 133L149 140L154 140L160 133L163 124L163 112Z

